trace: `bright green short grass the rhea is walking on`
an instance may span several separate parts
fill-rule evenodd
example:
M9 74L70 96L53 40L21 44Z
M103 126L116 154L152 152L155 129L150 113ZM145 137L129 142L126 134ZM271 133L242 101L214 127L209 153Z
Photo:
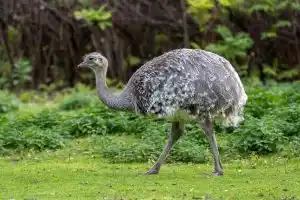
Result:
M293 199L300 197L300 160L256 157L224 163L211 177L208 164L111 164L91 148L92 138L58 151L0 159L0 199ZM115 196L117 195L117 198Z

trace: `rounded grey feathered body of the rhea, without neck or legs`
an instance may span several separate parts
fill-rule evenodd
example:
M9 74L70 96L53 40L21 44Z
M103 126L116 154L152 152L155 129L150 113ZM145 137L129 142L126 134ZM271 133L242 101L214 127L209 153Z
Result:
M203 50L176 49L146 62L128 81L135 109L159 117L185 110L237 125L247 95L223 57Z

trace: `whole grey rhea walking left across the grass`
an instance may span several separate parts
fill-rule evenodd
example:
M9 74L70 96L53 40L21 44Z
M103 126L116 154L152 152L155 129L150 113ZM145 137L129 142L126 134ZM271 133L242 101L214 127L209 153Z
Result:
M156 163L145 174L158 174L173 145L183 135L185 116L199 122L211 148L212 175L223 175L214 120L237 127L247 102L237 72L224 57L200 49L175 49L144 63L124 90L113 94L106 85L107 59L98 52L86 54L78 67L88 67L96 77L99 98L110 108L142 115L171 118L171 131Z

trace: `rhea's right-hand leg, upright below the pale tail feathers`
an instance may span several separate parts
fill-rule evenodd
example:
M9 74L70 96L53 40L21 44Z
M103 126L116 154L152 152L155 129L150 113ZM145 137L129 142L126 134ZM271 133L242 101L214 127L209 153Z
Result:
M209 142L213 158L214 158L214 167L215 171L213 172L213 175L215 176L222 176L223 175L223 167L220 160L220 154L218 150L216 135L213 130L213 122L210 117L207 117L204 122L201 121L200 123L201 127L203 128L204 134L206 135L206 138Z

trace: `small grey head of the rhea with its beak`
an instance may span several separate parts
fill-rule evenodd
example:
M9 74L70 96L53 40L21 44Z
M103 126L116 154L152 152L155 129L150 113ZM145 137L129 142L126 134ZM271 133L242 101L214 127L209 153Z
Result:
M94 71L106 71L108 66L107 59L98 52L86 54L83 61L77 65L78 68L91 68Z

